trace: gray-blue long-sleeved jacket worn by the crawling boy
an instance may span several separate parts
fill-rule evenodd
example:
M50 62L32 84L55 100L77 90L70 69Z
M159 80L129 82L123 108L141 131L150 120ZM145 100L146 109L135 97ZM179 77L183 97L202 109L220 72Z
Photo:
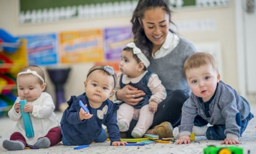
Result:
M178 126L180 136L190 135L194 125L194 117L200 115L211 125L225 125L224 131L227 138L229 136L240 136L240 126L237 122L237 114L240 113L241 121L250 114L250 105L242 96L223 81L218 83L214 98L210 99L209 115L204 112L204 102L191 93L189 99L184 102L182 107L181 125Z

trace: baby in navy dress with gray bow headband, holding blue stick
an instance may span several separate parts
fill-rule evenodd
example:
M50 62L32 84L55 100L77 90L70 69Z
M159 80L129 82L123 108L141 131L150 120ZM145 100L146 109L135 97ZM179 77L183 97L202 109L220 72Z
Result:
M71 96L69 105L61 119L62 142L64 146L81 146L92 142L105 142L107 127L110 145L124 146L116 122L118 106L109 99L114 93L116 74L113 67L95 65L84 80L84 92ZM87 107L84 110L80 104Z

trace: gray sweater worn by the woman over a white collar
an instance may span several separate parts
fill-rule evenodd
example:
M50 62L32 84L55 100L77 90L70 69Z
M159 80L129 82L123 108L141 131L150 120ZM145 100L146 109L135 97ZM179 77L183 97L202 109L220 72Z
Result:
M196 51L191 41L180 37L180 42L172 52L157 59L151 57L148 69L158 75L167 93L181 89L189 94L190 89L183 73L183 65L187 57Z

